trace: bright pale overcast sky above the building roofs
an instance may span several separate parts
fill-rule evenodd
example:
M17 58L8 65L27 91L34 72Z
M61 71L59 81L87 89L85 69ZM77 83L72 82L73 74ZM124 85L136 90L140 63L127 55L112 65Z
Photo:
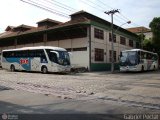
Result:
M24 0L27 1L27 0ZM160 0L28 0L43 4L52 8L52 11L61 11L65 16L79 10L85 10L107 21L111 21L109 15L104 11L120 9L120 14L114 15L114 23L121 26L128 20L130 25L122 27L149 27L149 23L154 17L160 17ZM72 10L63 9L59 3L74 8ZM32 3L33 3L32 2ZM52 2L52 4L51 4ZM57 4L57 5L56 5ZM59 7L62 6L62 7ZM68 7L69 8L69 7ZM70 8L70 9L71 9ZM54 9L54 10L53 10ZM36 22L45 18L57 21L68 21L70 18L59 16L35 6L22 2L21 0L1 0L0 1L0 32L3 32L8 25L18 26L21 24L37 26Z

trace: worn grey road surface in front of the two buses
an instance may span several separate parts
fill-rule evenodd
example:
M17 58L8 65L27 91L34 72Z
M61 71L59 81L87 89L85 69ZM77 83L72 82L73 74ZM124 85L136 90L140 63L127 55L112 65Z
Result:
M158 115L160 71L60 75L0 70L0 113Z

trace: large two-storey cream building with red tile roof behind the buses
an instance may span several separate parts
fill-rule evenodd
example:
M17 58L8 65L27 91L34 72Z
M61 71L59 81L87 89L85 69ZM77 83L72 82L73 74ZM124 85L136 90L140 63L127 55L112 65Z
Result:
M8 26L0 34L0 51L4 49L57 46L72 52L71 64L91 71L110 70L111 23L85 11L76 12L67 22L44 19L37 27ZM120 51L139 47L136 34L114 25L114 60L118 68Z

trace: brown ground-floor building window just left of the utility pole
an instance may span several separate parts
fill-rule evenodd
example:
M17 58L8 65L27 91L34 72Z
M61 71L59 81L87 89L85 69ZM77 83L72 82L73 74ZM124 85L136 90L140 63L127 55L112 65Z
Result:
M95 61L104 61L104 50L95 48Z

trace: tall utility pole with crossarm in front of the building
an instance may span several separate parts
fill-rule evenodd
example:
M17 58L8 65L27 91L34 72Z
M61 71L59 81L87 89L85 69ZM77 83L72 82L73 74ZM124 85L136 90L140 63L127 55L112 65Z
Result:
M111 50L111 60L112 60L112 63L111 63L111 73L113 73L114 72L114 45L113 45L113 42L114 42L114 33L113 33L113 15L115 14L115 13L119 13L119 10L117 9L117 10L111 10L111 11L108 11L108 12L104 12L104 13L106 13L106 14L108 14L108 15L110 15L111 14L111 21L112 21L112 24L111 24L111 31L112 31L112 50Z

